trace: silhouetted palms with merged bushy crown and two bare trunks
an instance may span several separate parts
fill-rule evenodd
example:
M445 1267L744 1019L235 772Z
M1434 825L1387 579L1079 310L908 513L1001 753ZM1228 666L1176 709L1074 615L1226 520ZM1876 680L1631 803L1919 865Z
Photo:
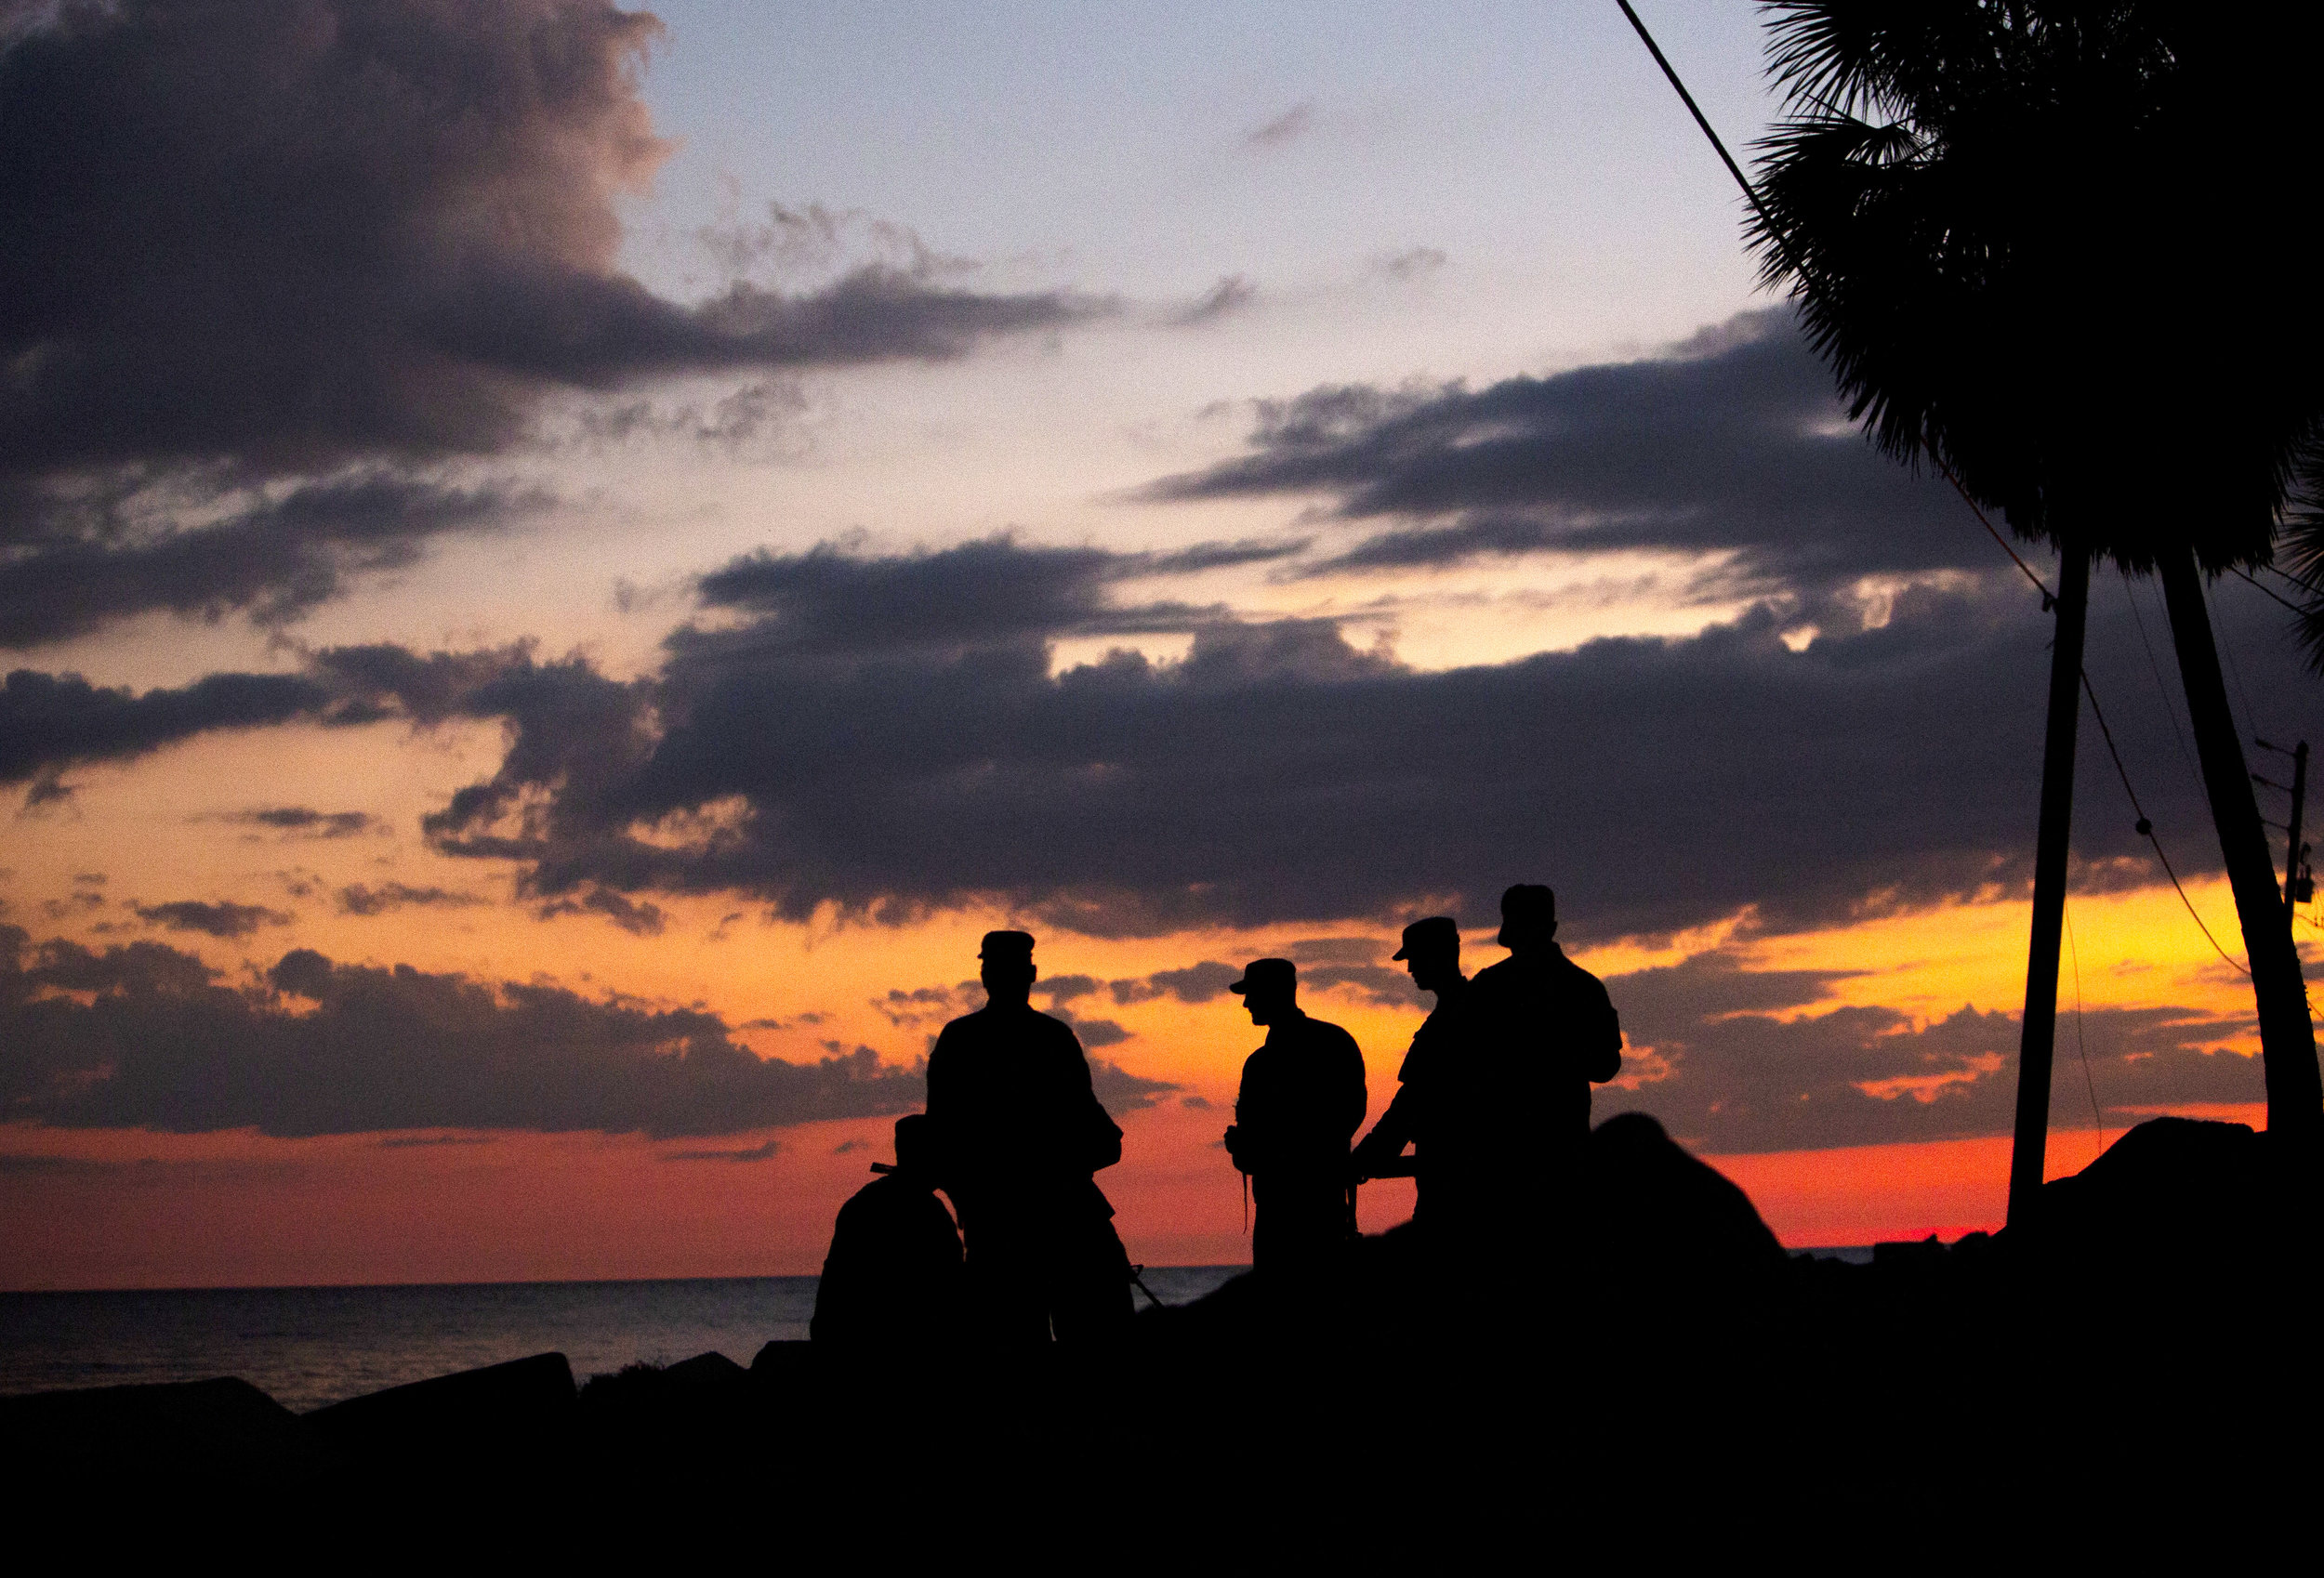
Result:
M2317 293L2268 216L2305 195L2310 19L2099 0L1769 0L1787 119L1752 223L1850 416L2059 551L2010 1220L2040 1185L2082 588L2154 574L2243 920L2268 1127L2324 1092L2203 574L2271 558L2317 432ZM2301 37L2284 37L2284 30Z

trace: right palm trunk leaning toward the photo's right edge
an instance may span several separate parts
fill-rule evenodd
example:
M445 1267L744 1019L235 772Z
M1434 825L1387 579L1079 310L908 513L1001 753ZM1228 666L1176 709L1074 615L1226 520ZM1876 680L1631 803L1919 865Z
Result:
M2243 760L2236 716L2226 709L2219 648L2203 607L2203 581L2194 553L2164 553L2157 565L2164 604L2171 609L2171 644L2178 648L2187 716L2194 723L2196 760L2210 792L2210 820L2219 827L2226 881L2236 890L2243 951L2252 960L2252 999L2259 1009L2259 1055L2268 1078L2268 1129L2312 1160L2324 1139L2324 1085L2317 1081L2317 1037L2308 1020L2308 985L2301 955L2291 946L2284 902L2275 890L2275 858L2259 823L2252 774Z

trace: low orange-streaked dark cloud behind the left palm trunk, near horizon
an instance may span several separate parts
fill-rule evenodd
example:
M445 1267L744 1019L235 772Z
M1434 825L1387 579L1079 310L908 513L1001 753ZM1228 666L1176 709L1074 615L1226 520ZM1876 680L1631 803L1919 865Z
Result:
M1650 1111L1706 1150L1796 1150L2008 1134L2017 1016L1961 1006L1917 1023L1880 1006L1822 1009L1841 971L1752 971L1727 955L1611 976L1636 1090L1594 1116ZM2243 1020L2194 1009L2094 1009L2059 1020L2052 1127L2106 1127L2157 1106L2259 1102L2259 1060L2224 1050ZM2085 1078L2082 1050L2089 1069Z

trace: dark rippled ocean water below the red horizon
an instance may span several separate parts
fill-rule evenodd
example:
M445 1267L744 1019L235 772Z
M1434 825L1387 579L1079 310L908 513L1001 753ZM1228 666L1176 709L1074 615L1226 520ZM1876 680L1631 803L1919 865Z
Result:
M1188 1304L1239 1271L1146 1267L1146 1285ZM576 1380L711 1350L748 1364L813 1313L813 1276L0 1292L0 1394L242 1376L307 1411L551 1348Z

